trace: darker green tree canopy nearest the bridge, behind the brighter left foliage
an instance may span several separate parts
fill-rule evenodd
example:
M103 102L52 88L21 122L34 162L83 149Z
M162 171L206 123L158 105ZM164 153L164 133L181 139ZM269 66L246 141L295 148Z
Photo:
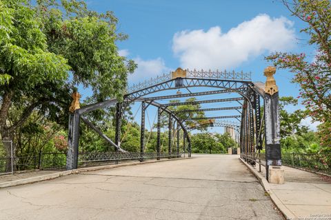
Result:
M84 1L61 4L38 1L35 9L43 21L49 50L68 59L74 84L91 87L93 102L116 97L121 100L128 73L137 67L117 52L117 19L112 12L98 14Z

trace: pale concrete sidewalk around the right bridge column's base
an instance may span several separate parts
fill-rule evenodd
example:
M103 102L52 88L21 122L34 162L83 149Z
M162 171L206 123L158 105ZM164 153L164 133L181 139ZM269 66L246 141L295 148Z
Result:
M255 175L265 180L265 168L257 172L249 166ZM285 184L269 184L262 181L265 190L277 207L288 219L331 219L331 178L283 166ZM259 179L259 177L258 177ZM261 179L260 179L261 181Z

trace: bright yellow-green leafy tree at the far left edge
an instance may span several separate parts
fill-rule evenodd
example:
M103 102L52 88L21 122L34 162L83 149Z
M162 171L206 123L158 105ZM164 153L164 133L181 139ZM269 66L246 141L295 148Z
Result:
M65 58L48 51L42 23L24 3L0 1L0 134L5 140L12 139L15 129L37 107L41 111L57 109L54 94L63 96L63 91L68 91L65 81L70 67ZM9 123L12 104L23 111ZM50 111L48 115L53 116Z

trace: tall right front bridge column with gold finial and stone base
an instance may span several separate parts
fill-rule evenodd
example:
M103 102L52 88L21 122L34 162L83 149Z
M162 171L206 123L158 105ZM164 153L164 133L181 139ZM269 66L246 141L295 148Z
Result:
M281 135L279 120L279 93L273 74L276 68L267 67L264 75L265 83L264 115L265 115L265 160L267 179L271 183L283 183L283 171L281 171ZM270 178L269 178L270 177Z

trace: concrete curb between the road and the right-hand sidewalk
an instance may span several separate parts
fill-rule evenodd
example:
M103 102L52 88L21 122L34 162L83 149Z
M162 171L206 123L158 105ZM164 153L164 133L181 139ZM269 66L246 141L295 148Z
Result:
M245 166L250 170L250 172L257 177L259 180L260 184L263 186L265 192L268 192L270 199L274 202L274 205L277 206L277 208L283 213L284 217L286 219L297 219L297 216L293 214L286 206L284 203L277 197L277 195L272 191L270 184L265 177L261 175L257 170L255 170L250 164L246 163L243 159L239 158Z

